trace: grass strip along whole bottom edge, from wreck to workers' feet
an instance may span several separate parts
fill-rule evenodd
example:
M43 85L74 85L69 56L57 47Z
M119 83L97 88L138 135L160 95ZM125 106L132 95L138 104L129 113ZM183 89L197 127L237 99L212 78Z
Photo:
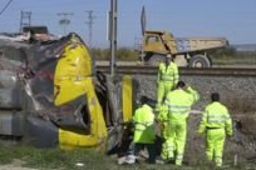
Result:
M38 169L213 169L213 164L198 160L193 166L186 165L177 167L173 164L146 163L135 165L119 165L116 158L106 156L103 153L95 152L92 149L77 148L75 150L64 151L58 148L38 149L28 146L8 146L0 145L0 164L10 164L14 160L20 160L27 168ZM83 163L84 166L77 167L76 163ZM231 163L226 164L225 169L243 169L244 166L232 167Z

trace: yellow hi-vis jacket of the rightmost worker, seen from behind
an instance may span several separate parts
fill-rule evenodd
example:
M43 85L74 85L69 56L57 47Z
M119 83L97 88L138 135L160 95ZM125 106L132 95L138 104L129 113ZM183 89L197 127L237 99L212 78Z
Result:
M205 107L198 133L205 132L207 128L222 128L225 129L228 136L232 136L232 120L228 109L220 102L213 102Z

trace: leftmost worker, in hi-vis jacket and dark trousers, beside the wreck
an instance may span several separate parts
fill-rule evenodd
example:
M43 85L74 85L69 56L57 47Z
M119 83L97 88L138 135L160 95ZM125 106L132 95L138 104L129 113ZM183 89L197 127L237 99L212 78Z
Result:
M155 115L153 108L148 105L148 98L142 96L140 99L141 107L134 113L134 155L137 157L140 150L147 148L148 163L155 163Z

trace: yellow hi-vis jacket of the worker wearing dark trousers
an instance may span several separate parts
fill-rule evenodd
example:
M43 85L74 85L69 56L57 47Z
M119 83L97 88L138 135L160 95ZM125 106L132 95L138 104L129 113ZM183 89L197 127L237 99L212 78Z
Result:
M153 109L144 104L134 113L134 142L141 144L153 144L155 142Z

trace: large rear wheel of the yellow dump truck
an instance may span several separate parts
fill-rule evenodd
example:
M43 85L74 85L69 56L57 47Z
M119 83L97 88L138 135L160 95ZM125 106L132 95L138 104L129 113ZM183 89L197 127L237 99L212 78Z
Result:
M211 62L205 55L194 55L189 60L190 68L210 68Z

